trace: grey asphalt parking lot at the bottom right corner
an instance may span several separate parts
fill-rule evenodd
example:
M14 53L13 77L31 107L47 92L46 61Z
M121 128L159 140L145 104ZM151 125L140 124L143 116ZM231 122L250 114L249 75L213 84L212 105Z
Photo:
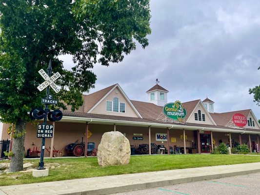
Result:
M112 195L260 195L260 173L183 183Z

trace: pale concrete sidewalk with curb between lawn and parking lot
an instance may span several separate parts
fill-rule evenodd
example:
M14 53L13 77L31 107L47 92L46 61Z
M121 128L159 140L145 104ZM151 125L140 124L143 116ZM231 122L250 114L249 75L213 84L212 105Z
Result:
M260 172L260 162L1 186L0 195L107 195Z

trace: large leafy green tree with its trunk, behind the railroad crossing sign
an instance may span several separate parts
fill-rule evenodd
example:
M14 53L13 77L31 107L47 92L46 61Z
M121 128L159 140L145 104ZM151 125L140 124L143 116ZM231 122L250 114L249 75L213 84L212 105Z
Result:
M49 59L62 75L54 98L75 110L94 87L95 63L120 62L136 42L148 45L149 20L149 0L0 0L0 117L16 124L10 171L23 169L27 113L42 106L38 71ZM58 59L63 54L73 56L70 71Z

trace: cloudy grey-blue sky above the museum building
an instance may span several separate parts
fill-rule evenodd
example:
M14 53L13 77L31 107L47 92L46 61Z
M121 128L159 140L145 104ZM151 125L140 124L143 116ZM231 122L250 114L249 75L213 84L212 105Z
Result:
M97 64L90 93L119 83L128 98L147 101L158 78L168 102L208 97L215 112L252 109L260 119L248 94L260 84L260 1L151 0L150 8L149 46L138 45L121 63Z

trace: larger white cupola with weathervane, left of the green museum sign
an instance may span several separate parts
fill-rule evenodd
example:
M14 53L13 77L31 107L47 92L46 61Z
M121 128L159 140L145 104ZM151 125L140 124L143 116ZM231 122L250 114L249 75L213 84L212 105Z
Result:
M148 102L154 103L158 106L164 106L167 103L168 92L168 90L158 84L157 80L157 84L146 92L148 94Z

